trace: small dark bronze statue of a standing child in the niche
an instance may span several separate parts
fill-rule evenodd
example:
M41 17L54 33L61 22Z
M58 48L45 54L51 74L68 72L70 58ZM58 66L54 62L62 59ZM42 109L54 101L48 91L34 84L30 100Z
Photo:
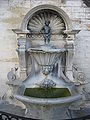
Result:
M46 42L48 42L48 44L50 43L51 28L49 24L49 20L45 21L45 25L40 30L40 32L43 34L45 44Z

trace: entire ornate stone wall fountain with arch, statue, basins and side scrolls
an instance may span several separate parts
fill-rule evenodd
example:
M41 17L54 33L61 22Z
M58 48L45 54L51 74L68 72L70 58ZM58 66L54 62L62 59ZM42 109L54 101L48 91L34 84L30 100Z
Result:
M9 101L23 103L24 116L29 118L70 118L68 110L80 109L85 99L84 75L73 75L74 41L79 30L72 30L68 15L60 8L41 5L30 10L21 28L13 31L18 40L20 78L8 73Z

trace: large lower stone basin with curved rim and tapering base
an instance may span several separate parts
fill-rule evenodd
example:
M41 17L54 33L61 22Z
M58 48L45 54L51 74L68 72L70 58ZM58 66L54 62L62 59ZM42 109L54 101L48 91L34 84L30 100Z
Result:
M26 105L26 117L41 120L62 120L68 107L81 99L81 95L63 98L34 98L14 95L16 99Z

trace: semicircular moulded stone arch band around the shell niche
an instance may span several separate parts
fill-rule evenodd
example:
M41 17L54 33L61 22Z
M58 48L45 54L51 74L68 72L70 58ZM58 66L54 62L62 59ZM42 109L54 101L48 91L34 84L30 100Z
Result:
M36 13L39 10L43 10L43 9L50 9L50 10L54 10L56 12L59 13L59 15L62 17L62 19L65 22L65 26L66 26L66 30L71 30L71 20L69 18L69 16L60 8L58 8L57 6L54 5L49 5L49 4L44 4L44 5L39 5L37 7L34 7L33 9L31 9L24 17L22 23L21 23L21 27L20 29L22 31L26 31L27 30L27 24L30 20L30 18L32 18L33 14Z

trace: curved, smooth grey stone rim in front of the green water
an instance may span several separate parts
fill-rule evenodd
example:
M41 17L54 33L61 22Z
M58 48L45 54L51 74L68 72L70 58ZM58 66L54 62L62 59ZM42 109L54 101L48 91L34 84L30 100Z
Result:
M22 102L39 104L39 105L65 104L82 99L82 95L80 94L72 95L69 97L62 97L62 98L35 98L35 97L27 97L24 95L14 95L14 97Z

